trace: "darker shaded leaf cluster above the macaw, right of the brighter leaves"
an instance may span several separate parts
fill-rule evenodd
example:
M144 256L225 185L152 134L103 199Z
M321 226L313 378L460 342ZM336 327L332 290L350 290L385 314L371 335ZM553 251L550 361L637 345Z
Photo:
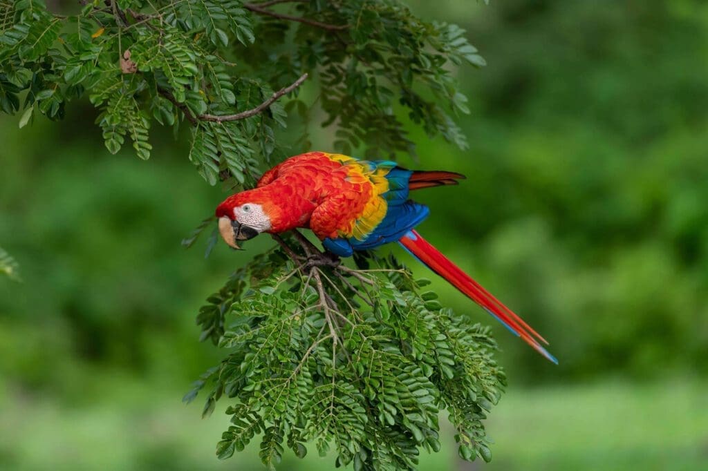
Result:
M338 127L336 150L351 153L365 148L366 156L379 157L414 153L401 115L423 126L431 137L440 134L467 147L453 120L469 112L467 97L459 91L452 70L462 63L485 62L464 30L424 21L397 0L313 0L294 5L302 18L317 18L329 27L302 25L293 32L277 19L266 18L256 25L258 41L253 47L258 53L239 50L263 74L280 74L280 64L320 71L321 93L316 100L326 114L322 124ZM297 47L279 47L289 41ZM307 136L303 139L307 148Z

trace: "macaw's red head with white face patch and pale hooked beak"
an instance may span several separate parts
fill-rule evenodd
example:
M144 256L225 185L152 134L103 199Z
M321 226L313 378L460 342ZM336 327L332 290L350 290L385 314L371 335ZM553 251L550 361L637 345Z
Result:
M249 240L273 228L276 211L268 195L258 190L232 194L217 207L219 233L227 245L240 249L237 240Z

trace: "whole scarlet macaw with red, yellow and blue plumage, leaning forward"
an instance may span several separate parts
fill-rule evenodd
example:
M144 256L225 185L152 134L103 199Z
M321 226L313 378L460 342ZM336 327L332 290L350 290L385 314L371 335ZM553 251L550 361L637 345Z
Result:
M430 210L408 199L411 190L456 185L464 175L406 170L391 161L360 161L324 152L293 156L266 172L253 190L233 194L216 216L224 241L293 228L309 228L326 250L349 257L354 250L398 241L414 257L479 304L555 364L539 343L548 342L413 228Z

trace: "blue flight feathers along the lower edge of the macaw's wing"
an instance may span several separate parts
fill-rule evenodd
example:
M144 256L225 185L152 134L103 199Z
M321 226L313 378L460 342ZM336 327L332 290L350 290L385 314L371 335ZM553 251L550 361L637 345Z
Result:
M369 250L399 240L428 214L430 209L416 202L390 204L384 219L365 238L325 238L322 245L336 255L349 257L354 250Z

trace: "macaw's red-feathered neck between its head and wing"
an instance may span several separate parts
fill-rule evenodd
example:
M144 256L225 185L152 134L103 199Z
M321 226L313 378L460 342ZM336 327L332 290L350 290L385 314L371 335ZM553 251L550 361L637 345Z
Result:
M274 181L264 187L251 190L263 200L266 214L270 216L271 233L290 231L297 227L309 225L312 211L316 208L313 198L313 188L305 183L292 185L291 182Z

